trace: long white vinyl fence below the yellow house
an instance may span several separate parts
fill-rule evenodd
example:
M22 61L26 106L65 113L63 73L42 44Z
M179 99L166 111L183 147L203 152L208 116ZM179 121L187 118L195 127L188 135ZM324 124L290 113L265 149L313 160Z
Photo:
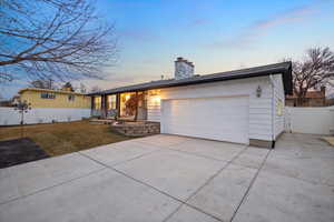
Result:
M32 108L24 113L24 124L70 122L90 117L90 109ZM20 124L21 114L13 108L0 108L0 125Z

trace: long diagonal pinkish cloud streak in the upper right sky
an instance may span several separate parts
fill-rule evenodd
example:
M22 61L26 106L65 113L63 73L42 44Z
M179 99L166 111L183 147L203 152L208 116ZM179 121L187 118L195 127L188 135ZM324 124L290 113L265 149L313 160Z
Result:
M210 44L210 48L233 48L233 49L245 49L252 47L259 38L266 36L271 29L279 27L282 24L288 24L292 22L305 21L308 17L318 12L315 4L307 4L298 8L294 8L276 14L272 18L258 20L253 24L244 28L243 32L230 39L217 41Z

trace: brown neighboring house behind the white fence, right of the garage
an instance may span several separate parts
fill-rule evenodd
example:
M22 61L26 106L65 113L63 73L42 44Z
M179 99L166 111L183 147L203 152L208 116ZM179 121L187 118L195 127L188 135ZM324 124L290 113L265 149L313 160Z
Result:
M298 98L296 94L286 95L285 104L287 107L297 107ZM303 98L302 105L298 107L325 107L326 105L326 88L322 87L320 91L308 91Z

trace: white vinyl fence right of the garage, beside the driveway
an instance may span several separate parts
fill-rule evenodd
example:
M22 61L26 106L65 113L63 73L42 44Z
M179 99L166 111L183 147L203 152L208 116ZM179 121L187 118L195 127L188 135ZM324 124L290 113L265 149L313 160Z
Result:
M334 107L285 108L285 131L334 134Z

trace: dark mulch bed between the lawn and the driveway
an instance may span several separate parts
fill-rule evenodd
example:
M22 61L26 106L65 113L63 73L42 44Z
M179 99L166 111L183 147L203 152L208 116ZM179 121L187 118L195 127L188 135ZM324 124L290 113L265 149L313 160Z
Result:
M0 169L45 158L49 155L29 138L0 141Z

